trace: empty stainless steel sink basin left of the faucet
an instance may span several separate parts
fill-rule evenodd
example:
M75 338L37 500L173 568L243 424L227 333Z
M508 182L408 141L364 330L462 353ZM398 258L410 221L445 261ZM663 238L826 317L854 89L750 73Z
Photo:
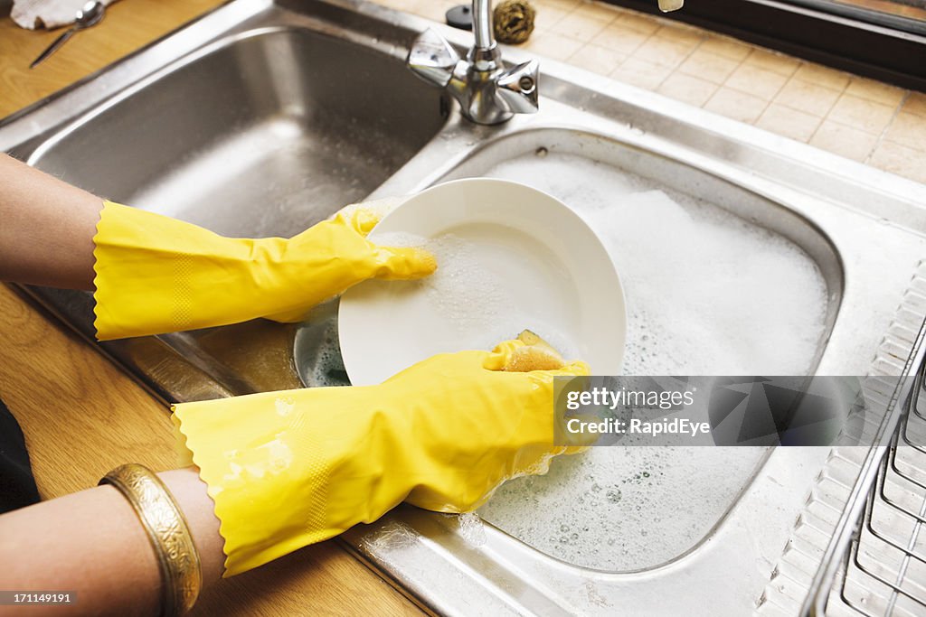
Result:
M445 116L441 93L393 57L259 29L119 93L29 161L220 234L289 237L368 195Z

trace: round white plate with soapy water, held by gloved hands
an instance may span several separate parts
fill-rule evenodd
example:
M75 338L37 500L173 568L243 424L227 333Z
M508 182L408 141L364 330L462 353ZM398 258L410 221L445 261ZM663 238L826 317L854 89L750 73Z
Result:
M619 373L627 319L618 273L594 231L554 197L507 180L455 180L408 198L369 240L396 234L438 239L428 245L438 272L344 293L338 335L355 386L435 353L490 350L524 328L596 375Z

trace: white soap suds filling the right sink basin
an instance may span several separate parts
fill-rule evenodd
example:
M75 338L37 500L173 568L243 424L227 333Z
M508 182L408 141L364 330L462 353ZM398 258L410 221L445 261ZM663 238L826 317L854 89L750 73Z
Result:
M570 154L489 170L582 215L617 265L628 308L624 373L802 375L827 290L795 244L713 204ZM551 341L552 342L552 341ZM643 569L718 522L766 450L601 447L500 487L482 518L559 559Z

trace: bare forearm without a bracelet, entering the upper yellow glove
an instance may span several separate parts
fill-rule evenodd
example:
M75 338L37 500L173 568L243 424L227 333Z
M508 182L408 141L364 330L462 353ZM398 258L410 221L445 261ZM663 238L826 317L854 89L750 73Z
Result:
M103 202L0 154L0 280L92 290Z

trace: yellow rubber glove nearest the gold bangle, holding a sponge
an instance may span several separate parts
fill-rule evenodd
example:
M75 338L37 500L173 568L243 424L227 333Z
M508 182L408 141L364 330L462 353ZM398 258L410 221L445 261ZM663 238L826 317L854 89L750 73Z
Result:
M225 576L369 523L407 500L469 512L518 475L544 474L559 370L503 370L494 352L441 354L379 386L267 392L174 407L215 501Z

